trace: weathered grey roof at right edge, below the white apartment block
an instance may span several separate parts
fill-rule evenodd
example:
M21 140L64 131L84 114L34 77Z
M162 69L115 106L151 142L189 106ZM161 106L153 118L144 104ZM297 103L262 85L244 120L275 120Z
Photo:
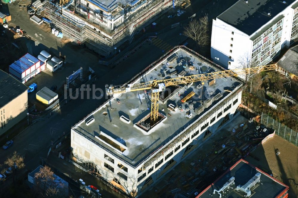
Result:
M290 48L277 62L277 65L298 76L298 45Z

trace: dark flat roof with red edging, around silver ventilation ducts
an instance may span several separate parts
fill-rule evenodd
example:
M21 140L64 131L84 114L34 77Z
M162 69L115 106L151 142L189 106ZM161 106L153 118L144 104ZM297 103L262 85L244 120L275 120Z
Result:
M226 190L224 193L221 192L222 198L238 198L242 197L235 192L235 188L238 185L246 184L256 173L261 173L261 185L256 186L252 191L255 193L252 195L253 198L273 198L277 197L281 192L283 192L288 186L284 185L281 182L277 182L273 177L270 177L264 172L256 169L254 166L248 164L244 160L240 160L236 163L235 167L232 167L231 170L226 172L224 175L218 178L212 185L208 186L203 193L200 194L199 198L210 198L210 193L212 197L218 198L218 193L213 194L213 190L219 190L222 186L231 178L235 177L235 184L232 185L233 190ZM264 196L266 195L266 196Z

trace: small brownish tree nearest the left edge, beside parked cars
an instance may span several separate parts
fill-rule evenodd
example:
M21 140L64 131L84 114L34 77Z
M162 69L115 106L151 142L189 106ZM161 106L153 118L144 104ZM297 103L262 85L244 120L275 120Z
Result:
M10 155L7 157L4 164L6 164L12 168L13 183L15 184L15 180L17 177L17 170L25 167L24 158L15 151L15 152L13 152L13 155Z

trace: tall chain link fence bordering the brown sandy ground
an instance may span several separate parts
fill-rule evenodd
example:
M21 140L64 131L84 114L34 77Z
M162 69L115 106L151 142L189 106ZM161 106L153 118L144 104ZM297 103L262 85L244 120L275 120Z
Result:
M288 128L286 125L281 124L269 115L263 113L261 115L261 124L268 128L273 128L275 130L275 134L297 146L298 133L296 131Z

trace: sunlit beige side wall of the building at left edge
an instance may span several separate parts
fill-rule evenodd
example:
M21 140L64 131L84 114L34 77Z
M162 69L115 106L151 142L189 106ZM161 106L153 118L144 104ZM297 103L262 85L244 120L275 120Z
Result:
M27 116L27 90L0 109L0 135Z

